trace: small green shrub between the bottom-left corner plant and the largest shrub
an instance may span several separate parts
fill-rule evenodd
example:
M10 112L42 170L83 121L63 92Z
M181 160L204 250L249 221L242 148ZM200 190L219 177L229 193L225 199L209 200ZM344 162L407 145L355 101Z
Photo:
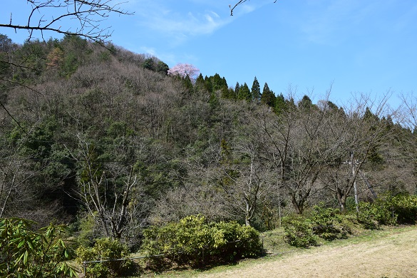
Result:
M77 262L113 260L128 257L128 247L121 244L118 240L110 238L101 238L96 241L93 247L78 247L76 250L78 255ZM129 274L134 269L131 260L99 262L87 264L86 277L120 277Z

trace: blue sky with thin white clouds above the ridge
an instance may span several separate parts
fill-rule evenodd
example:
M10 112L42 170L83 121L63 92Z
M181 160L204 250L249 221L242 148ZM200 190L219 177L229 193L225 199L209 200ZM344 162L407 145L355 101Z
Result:
M2 3L1 23L24 18L26 1ZM237 0L127 0L133 16L113 14L111 40L150 53L170 67L192 63L203 76L219 73L229 86L257 76L275 93L289 87L314 102L331 86L339 105L352 95L380 98L417 90L417 1L250 0L230 16ZM124 1L119 1L124 2ZM27 32L0 29L23 43ZM58 37L58 35L52 35Z

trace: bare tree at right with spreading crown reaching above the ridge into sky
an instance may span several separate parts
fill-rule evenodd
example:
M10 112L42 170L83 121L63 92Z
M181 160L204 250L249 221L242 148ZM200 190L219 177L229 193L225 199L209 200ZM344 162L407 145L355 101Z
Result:
M361 95L351 107L345 107L343 113L329 111L329 117L333 118L328 128L329 134L334 133L332 136L337 136L340 144L334 150L336 159L326 167L321 182L329 185L342 211L346 209L349 196L354 195L357 205L359 191L369 190L372 197L376 196L366 179L364 167L371 163L370 156L377 155L376 150L383 139L388 139L393 132L387 130L386 125L379 120L382 116L391 117L392 111L386 108L386 98L376 103ZM359 185L364 189L359 190Z

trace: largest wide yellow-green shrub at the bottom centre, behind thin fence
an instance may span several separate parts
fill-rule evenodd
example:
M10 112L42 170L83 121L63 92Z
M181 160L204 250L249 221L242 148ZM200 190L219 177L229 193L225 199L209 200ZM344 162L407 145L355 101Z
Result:
M150 267L173 263L195 267L201 263L225 262L262 252L259 232L236 222L207 223L205 217L188 216L163 227L143 232L142 249L148 255L164 254L148 261Z

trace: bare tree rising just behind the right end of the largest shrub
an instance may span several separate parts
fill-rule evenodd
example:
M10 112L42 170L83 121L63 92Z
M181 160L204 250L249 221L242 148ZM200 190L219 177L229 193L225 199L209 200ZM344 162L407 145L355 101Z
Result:
M250 104L249 104L250 105ZM227 212L252 225L259 207L273 199L277 192L275 173L265 163L262 144L264 131L259 129L257 107L241 114L237 120L235 135L230 147L221 144L222 159L215 183L220 187L219 198Z

